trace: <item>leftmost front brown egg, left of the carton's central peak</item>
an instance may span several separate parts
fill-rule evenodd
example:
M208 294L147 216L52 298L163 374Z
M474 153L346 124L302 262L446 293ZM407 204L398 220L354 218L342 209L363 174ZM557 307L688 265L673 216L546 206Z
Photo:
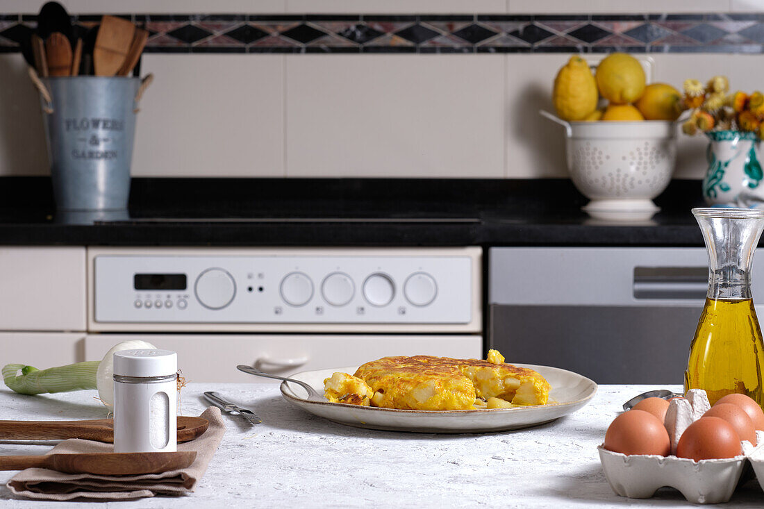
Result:
M633 454L668 456L671 452L669 432L658 417L644 410L629 410L613 419L605 433L605 449Z

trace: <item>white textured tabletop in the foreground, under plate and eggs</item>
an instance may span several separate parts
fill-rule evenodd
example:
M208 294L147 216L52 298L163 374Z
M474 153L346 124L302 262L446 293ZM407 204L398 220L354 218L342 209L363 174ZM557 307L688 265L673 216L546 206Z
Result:
M226 417L225 436L196 492L185 497L110 502L105 507L623 507L688 506L678 491L655 498L621 498L605 480L597 445L624 400L655 388L601 385L578 412L527 430L482 435L437 435L361 430L314 417L282 399L277 384L189 384L183 415L208 405L202 391L219 391L254 410L251 426ZM0 418L15 420L106 417L95 391L21 396L0 389ZM0 441L0 453L43 454L48 445ZM0 506L51 504L15 498L0 472ZM762 507L756 480L738 488L730 504ZM55 503L90 507L92 503ZM104 507L99 505L99 507Z

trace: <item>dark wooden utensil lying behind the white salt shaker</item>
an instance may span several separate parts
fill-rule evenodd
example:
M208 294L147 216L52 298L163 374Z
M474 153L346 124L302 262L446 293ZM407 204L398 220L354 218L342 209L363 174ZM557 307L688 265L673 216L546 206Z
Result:
M207 430L202 417L178 416L178 442L189 442ZM0 420L0 440L79 438L114 443L114 420Z

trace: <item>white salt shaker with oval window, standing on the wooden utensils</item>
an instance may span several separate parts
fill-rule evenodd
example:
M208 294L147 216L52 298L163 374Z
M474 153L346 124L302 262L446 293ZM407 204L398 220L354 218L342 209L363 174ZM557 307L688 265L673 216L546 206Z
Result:
M177 448L178 357L170 350L114 354L114 452Z

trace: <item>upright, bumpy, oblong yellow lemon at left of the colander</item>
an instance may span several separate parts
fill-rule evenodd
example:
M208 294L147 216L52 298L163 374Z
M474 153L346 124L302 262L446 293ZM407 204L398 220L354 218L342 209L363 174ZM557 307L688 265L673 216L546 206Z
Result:
M559 118L582 120L597 108L597 83L586 63L574 55L555 77L552 101Z

